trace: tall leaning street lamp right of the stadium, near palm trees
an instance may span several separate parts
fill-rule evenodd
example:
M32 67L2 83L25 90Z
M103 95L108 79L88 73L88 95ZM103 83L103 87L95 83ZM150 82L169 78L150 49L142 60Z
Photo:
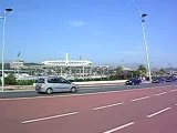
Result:
M143 32L143 40L144 40L144 45L145 45L145 52L146 52L146 61L147 61L147 69L148 69L148 76L149 76L149 81L152 81L152 72L150 72L150 63L149 63L149 54L148 54L148 47L147 47L147 40L146 40L146 33L145 33L145 17L147 16L146 13L143 13L137 1L136 0L132 0L139 13L140 17L140 23L142 23L142 32Z

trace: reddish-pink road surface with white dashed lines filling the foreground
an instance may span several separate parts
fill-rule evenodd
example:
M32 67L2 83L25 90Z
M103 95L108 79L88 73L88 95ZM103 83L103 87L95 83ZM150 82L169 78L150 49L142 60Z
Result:
M152 85L96 89L110 90L106 92L83 89L86 93L81 91L76 95L0 99L0 130L2 133L177 133L177 84Z

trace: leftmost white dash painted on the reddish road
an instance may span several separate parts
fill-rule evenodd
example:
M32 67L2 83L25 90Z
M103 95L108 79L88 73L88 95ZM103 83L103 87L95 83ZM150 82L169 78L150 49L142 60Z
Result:
M72 113L53 115L53 116L48 116L48 117L33 119L33 120L23 121L23 122L21 122L21 123L22 123L22 124L33 123L33 122L44 121L44 120L51 120L51 119L56 119L56 117L70 116L70 115L74 115L74 114L77 114L77 113L79 113L79 112L72 112Z

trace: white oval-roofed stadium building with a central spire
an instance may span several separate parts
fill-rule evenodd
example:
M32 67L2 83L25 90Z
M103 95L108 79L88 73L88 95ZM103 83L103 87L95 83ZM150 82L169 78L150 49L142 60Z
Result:
M42 61L42 65L54 69L59 75L66 79L90 76L93 66L88 60L70 60L69 53L66 53L65 60L46 60Z

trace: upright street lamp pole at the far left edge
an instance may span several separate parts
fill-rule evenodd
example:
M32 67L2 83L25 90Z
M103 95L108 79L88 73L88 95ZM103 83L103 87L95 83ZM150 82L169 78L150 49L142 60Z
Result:
M4 60L3 60L3 54L4 54L4 44L6 44L6 22L7 22L7 14L8 12L11 12L12 9L8 8L4 10L3 16L0 17L1 19L3 19L3 35L2 35L2 79L1 79L1 84L2 84L2 91L3 91L3 86L4 86Z

